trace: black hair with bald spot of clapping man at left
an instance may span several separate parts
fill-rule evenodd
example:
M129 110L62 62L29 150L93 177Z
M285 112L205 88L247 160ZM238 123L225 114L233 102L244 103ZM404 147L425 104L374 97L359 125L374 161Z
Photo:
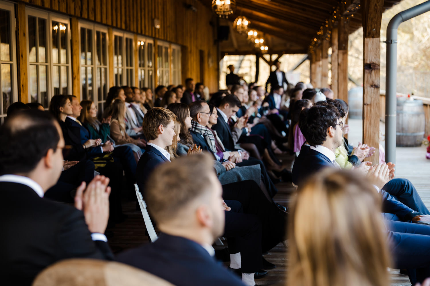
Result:
M27 174L49 149L57 150L60 135L49 112L17 111L0 127L0 175Z

